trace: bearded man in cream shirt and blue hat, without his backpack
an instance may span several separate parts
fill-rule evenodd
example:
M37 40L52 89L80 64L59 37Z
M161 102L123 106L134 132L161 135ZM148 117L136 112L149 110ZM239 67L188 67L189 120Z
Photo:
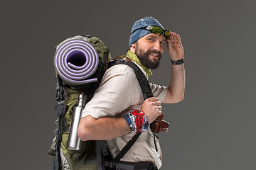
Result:
M158 169L161 167L159 141L156 139L155 146L154 134L148 127L162 114L161 102L177 103L184 98L183 46L178 34L164 30L153 17L142 18L132 26L127 57L139 65L147 78L151 69L159 66L164 45L172 63L169 86L150 84L154 97L144 101L133 69L124 64L110 67L82 112L78 128L81 140L107 140L112 157L116 157L134 132L142 132L121 160L151 162Z

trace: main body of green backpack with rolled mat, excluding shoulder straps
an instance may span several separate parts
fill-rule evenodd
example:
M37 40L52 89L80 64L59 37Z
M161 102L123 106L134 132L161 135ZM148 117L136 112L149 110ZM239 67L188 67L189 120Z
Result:
M82 43L84 43L84 41L86 40L86 42L88 43L77 45L77 47L73 47L73 45L68 44L68 41L70 41L70 43L72 44L75 44L74 41L72 42L72 40L75 40L75 43L79 40ZM53 158L53 164L51 169L97 169L97 153L95 141L82 142L82 149L78 151L67 149L67 141L73 117L73 108L78 105L78 96L82 93L86 94L87 101L90 101L90 98L92 98L95 89L97 89L97 87L100 85L102 76L105 73L107 60L111 59L110 50L104 45L104 43L99 38L90 37L90 35L87 35L87 37L85 38L82 36L76 36L74 38L68 38L63 42L60 42L60 44L56 47L57 50L55 53L55 58L57 52L60 51L58 50L60 47L64 49L60 50L63 50L65 52L62 52L62 54L58 55L63 55L63 53L66 54L71 51L73 52L73 56L68 54L69 56L67 55L67 57L63 57L63 61L59 61L62 63L54 63L55 69L57 70L56 72L58 79L56 88L56 101L58 101L58 106L55 107L55 110L57 110L58 120L56 120L57 129L55 130L55 138L53 139L53 144L50 147L50 151L48 151L50 157ZM80 47L87 47L88 49L82 51L79 49ZM90 76L90 78L92 77L97 81L92 81L87 84L79 84L79 82L77 83L76 80L65 79L65 77L61 75L62 73L59 71L59 69L63 68L57 68L58 64L65 64L65 62L71 62L72 64L72 62L75 62L72 61L72 57L76 58L75 60L82 60L79 59L79 54L75 54L75 52L90 52L92 50L96 50L96 57L98 56L99 60L97 62L98 66L97 68L95 68L96 70ZM95 53L86 53L85 55L95 55ZM58 60L60 59L58 58ZM70 83L68 81L70 81Z

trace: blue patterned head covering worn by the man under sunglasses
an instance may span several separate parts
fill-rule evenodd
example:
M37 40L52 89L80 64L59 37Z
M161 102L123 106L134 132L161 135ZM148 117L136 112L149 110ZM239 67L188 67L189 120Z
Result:
M131 33L138 28L142 28L146 26L159 26L164 29L161 23L159 23L159 21L157 21L155 18L153 18L152 16L146 16L142 19L139 19L138 21L135 21L134 25L132 26ZM131 45L134 42L139 40L139 38L142 38L143 36L150 33L152 33L150 30L144 30L144 29L136 30L134 33L132 33L132 35L130 35L129 47L131 47Z

